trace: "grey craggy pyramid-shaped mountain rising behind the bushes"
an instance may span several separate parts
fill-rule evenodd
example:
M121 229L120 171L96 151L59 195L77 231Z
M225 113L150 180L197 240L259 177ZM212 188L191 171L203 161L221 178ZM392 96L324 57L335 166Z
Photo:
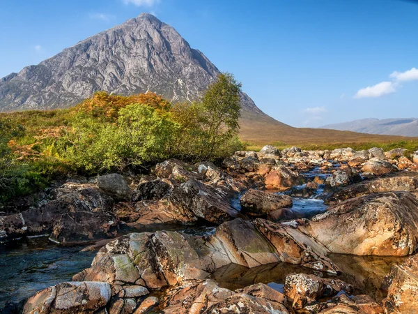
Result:
M100 90L123 95L155 91L173 102L193 101L218 74L173 27L142 13L3 77L0 111L70 107ZM251 98L241 96L245 110L263 115Z

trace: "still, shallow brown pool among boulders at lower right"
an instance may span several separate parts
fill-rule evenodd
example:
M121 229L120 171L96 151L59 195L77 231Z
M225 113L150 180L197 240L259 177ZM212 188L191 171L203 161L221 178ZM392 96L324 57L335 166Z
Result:
M380 290L383 278L389 273L392 264L402 262L400 257L362 257L354 255L330 255L343 271L343 274L331 274L314 271L285 262L267 264L248 269L246 267L230 264L215 271L210 278L217 281L221 287L236 290L254 283L265 283L279 292L283 292L283 285L288 274L315 274L323 278L339 278L350 283L355 288L354 294L369 294L380 301L385 293Z

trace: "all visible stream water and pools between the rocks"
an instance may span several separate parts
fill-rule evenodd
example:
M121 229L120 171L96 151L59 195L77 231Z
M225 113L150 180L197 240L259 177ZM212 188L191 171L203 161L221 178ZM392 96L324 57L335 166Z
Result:
M329 174L323 174L314 169L302 175L313 179L317 175L325 178ZM304 188L304 186L296 186L295 188ZM240 209L239 198L233 200L233 207L237 209ZM327 210L327 205L323 202L323 186L320 186L316 194L310 198L292 198L293 211L297 211L305 218ZM215 227L183 226L176 229L198 236L215 232ZM7 301L21 301L45 287L63 281L71 281L73 275L90 267L96 255L95 251L82 251L83 248L84 246L57 246L48 241L47 237L34 237L13 244L13 246L0 247L0 308L3 308ZM357 289L355 294L369 294L377 300L385 297L380 290L383 278L389 272L392 264L402 260L396 257L359 257L338 254L332 254L330 258L344 273L337 278L351 283ZM252 269L231 264L218 269L211 278L217 281L220 286L232 290L253 283L266 283L281 292L284 278L291 273L330 276L281 262Z

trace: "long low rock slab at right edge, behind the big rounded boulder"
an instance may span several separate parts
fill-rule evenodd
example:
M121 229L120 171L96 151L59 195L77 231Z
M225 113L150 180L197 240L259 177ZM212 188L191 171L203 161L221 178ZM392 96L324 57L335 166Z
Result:
M342 202L350 198L371 193L389 191L409 191L417 193L418 172L393 172L385 176L362 181L334 192L327 198L327 203Z

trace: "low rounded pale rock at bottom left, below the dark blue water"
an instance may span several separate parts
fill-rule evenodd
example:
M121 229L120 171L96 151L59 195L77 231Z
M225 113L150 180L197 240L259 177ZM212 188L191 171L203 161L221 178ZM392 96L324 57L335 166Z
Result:
M23 313L95 313L111 298L109 283L59 283L30 297Z

